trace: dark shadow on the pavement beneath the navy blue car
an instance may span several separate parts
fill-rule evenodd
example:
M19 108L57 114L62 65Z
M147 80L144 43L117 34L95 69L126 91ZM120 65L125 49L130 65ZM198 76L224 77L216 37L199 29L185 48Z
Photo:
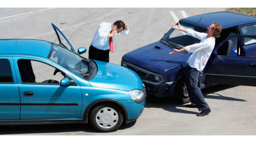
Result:
M219 100L231 100L231 101L246 101L244 99L238 99L233 97L225 97L223 95L214 93L221 90L229 89L235 87L234 85L214 85L209 88L202 89L202 94L205 98L209 99L219 99ZM214 94L214 95L208 95ZM186 113L186 114L197 114L198 112L187 111L179 109L177 107L185 107L183 104L176 104L173 97L147 97L145 108L163 108L166 111L177 112L177 113Z

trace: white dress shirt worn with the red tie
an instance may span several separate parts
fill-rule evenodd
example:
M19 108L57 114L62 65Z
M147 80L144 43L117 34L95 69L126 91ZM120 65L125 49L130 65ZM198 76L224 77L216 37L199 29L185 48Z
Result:
M100 50L109 50L109 35L111 31L111 23L102 22L100 26L97 28L93 38L92 38L92 46ZM123 30L122 32L116 33L116 35L128 35L129 30ZM112 41L116 39L116 35L112 37Z

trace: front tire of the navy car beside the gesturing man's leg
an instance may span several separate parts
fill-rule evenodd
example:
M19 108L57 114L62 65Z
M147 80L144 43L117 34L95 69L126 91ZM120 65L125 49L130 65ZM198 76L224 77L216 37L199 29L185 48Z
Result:
M188 96L185 78L181 78L178 81L178 84L176 85L176 88L175 88L174 97L175 97L175 101L178 104L186 104L190 102L190 97Z

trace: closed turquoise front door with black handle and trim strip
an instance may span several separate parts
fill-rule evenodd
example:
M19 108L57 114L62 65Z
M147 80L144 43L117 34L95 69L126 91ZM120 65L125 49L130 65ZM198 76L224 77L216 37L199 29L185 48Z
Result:
M38 58L13 60L21 97L21 120L80 118L81 89L70 74ZM53 75L56 68L61 72ZM73 84L60 86L64 77Z

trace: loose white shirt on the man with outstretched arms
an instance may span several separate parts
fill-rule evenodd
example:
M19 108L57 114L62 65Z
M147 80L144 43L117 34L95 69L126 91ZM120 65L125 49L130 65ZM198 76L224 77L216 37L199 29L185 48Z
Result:
M196 43L190 46L185 46L184 49L192 53L190 58L187 60L190 67L196 68L198 71L203 71L211 52L215 45L215 37L207 38L206 33L200 33L192 29L187 29L187 35L195 37L201 40L200 43Z

